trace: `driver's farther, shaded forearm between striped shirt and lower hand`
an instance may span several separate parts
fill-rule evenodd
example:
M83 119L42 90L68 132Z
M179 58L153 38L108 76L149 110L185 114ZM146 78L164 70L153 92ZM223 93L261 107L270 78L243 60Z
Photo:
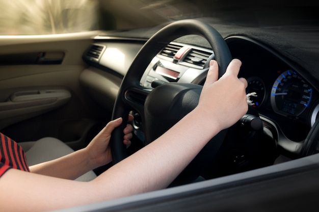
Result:
M31 166L30 171L52 177L76 179L93 168L96 167L91 163L85 149L81 149L56 160Z

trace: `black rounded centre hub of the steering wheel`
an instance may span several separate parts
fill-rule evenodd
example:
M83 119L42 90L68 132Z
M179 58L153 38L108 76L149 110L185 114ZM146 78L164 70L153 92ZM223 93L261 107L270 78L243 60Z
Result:
M145 137L150 143L191 112L198 104L202 86L170 83L158 86L144 105Z

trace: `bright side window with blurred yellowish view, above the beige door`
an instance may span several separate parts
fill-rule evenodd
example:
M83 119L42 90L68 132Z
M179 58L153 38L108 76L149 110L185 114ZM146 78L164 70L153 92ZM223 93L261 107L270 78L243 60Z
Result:
M0 35L45 35L96 30L97 1L0 1Z

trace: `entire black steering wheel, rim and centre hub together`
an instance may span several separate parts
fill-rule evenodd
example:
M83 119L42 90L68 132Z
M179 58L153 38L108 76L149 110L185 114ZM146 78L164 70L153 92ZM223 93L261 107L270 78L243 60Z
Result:
M199 85L168 83L151 92L140 85L145 69L158 52L171 41L185 35L199 35L207 39L219 65L219 77L225 73L232 59L230 51L223 37L207 23L192 19L175 21L154 34L138 52L118 91L112 119L122 117L123 123L111 136L113 164L128 156L122 140L130 111L135 110L141 115L147 144L161 136L198 104L202 89Z

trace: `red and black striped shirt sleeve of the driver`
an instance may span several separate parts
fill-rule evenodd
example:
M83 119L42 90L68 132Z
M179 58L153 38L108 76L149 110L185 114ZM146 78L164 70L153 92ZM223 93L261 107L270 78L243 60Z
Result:
M23 149L0 133L0 177L11 168L30 172Z

